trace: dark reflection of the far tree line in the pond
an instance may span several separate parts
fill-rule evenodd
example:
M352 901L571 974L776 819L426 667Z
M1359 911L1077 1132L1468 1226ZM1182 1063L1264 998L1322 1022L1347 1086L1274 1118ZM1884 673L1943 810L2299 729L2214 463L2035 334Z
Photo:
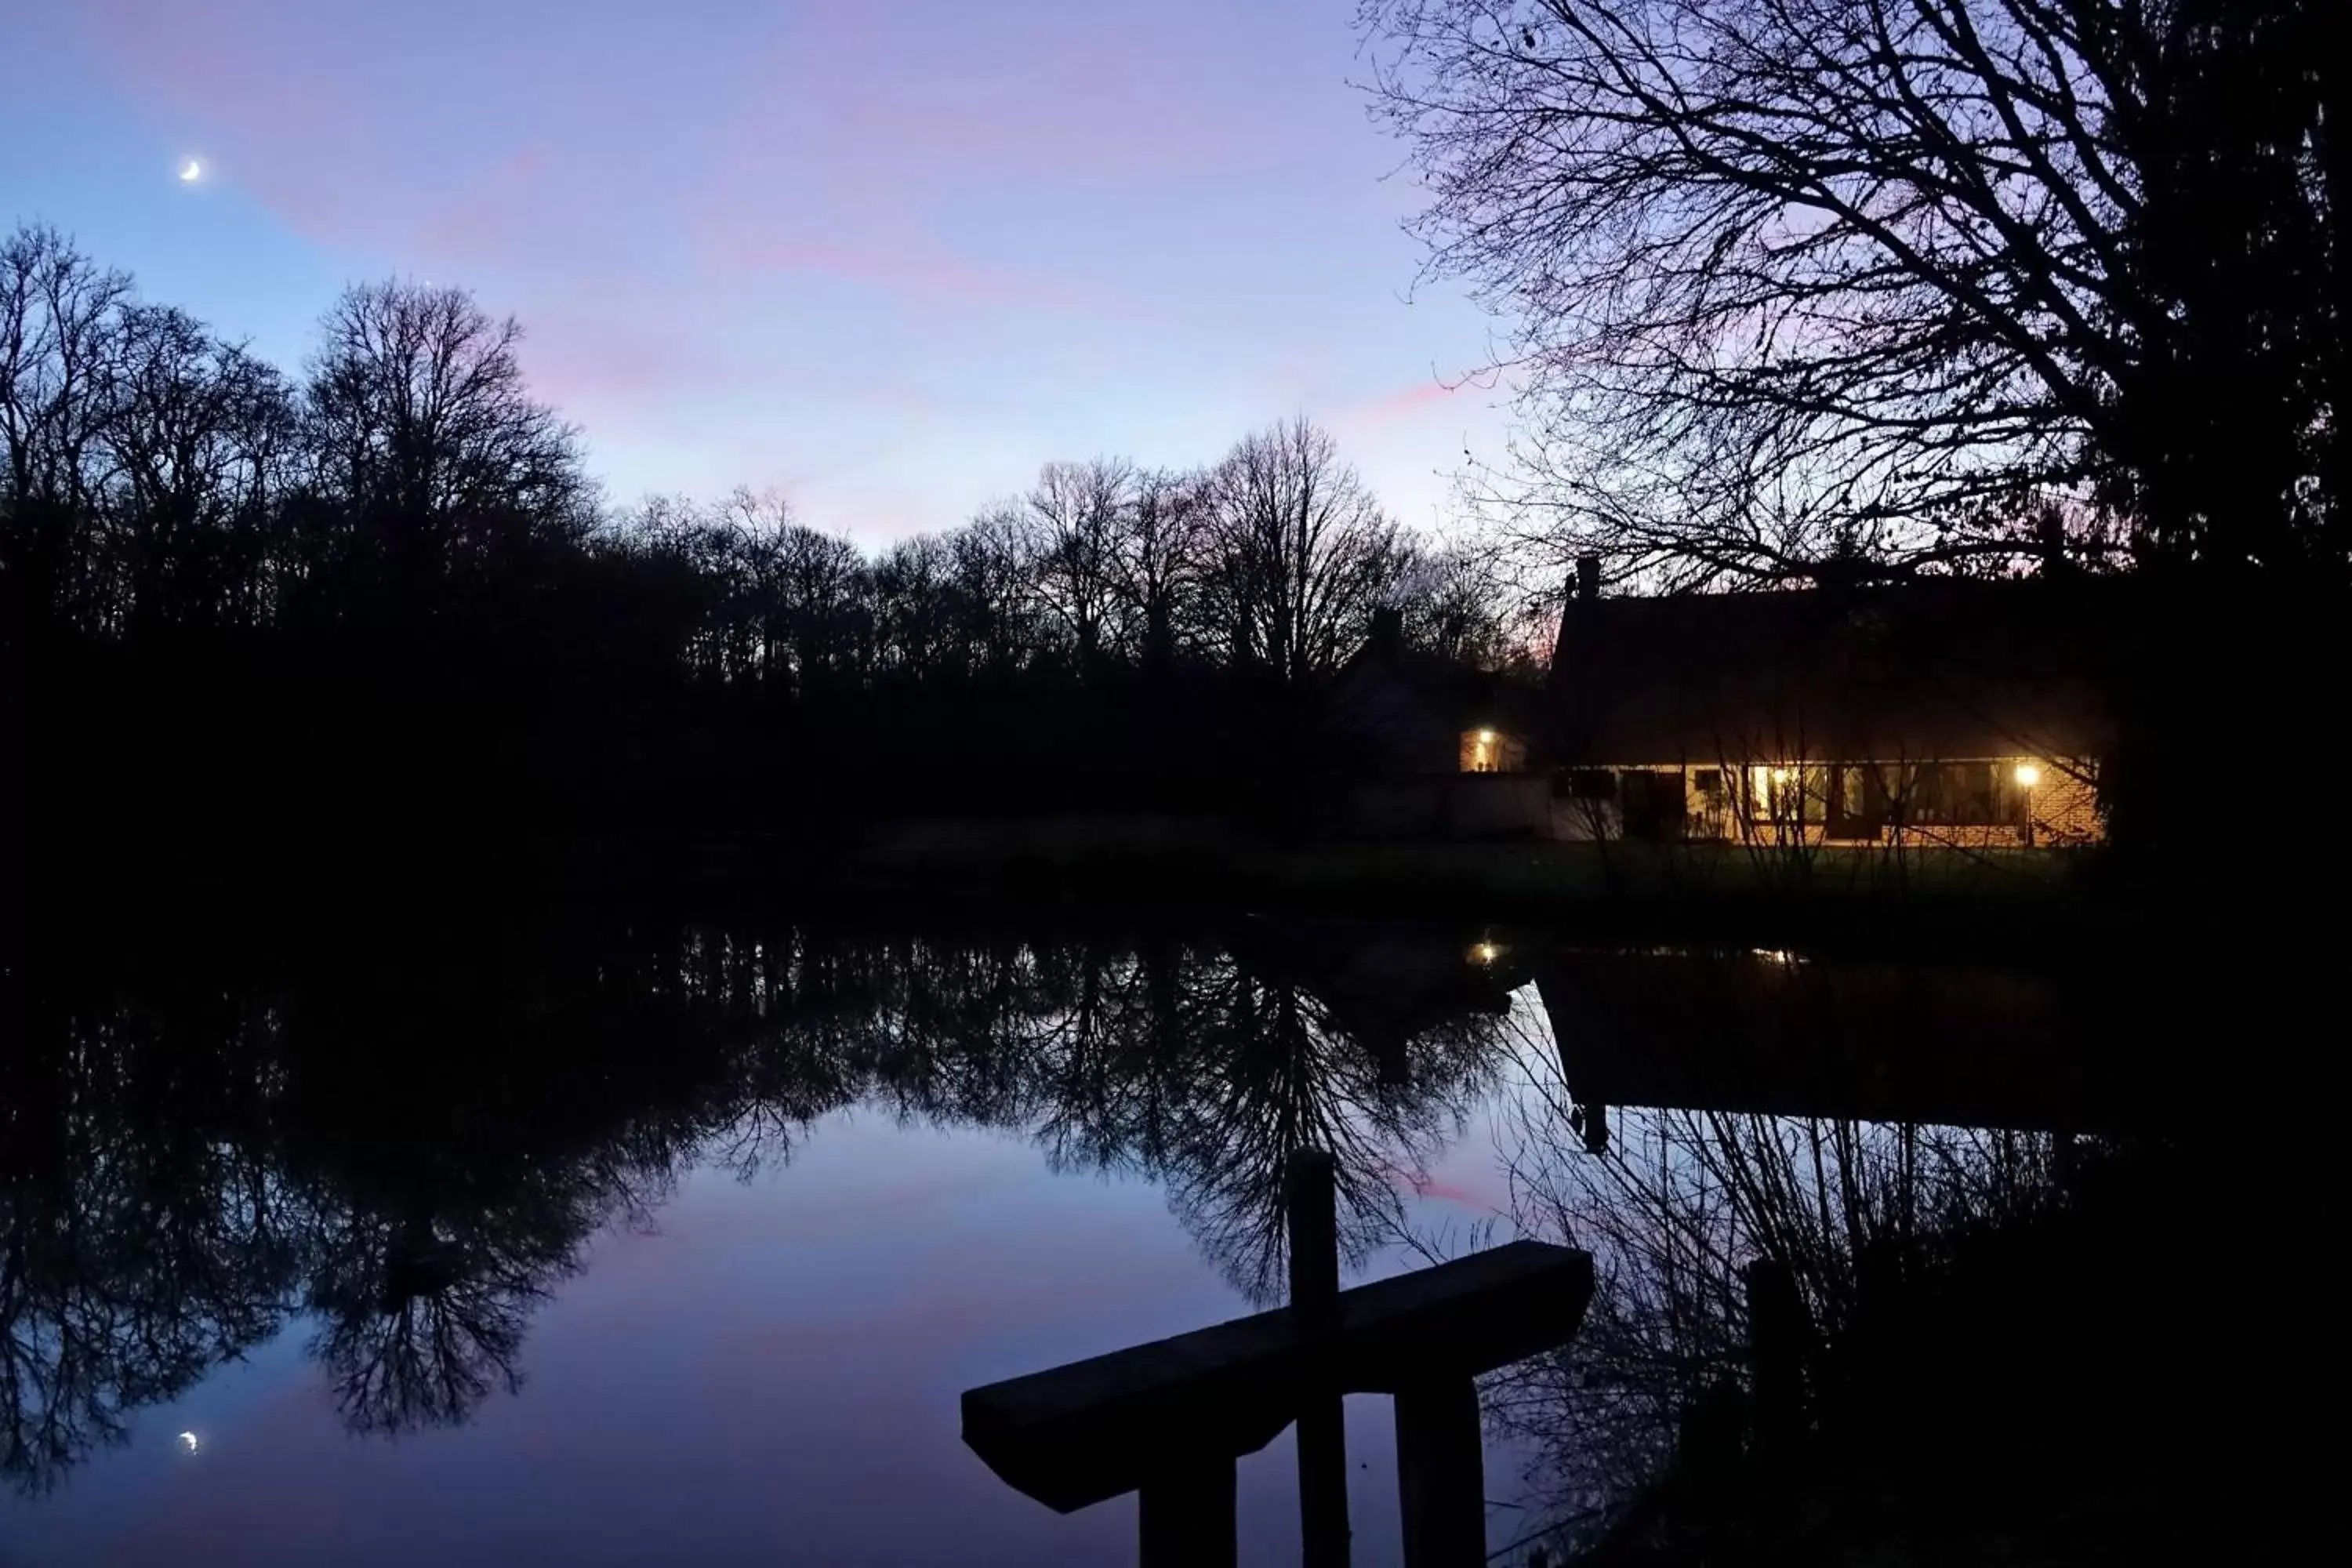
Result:
M532 1314L600 1229L691 1164L788 1161L847 1105L1157 1180L1265 1300L1284 1157L1338 1154L1362 1255L1494 1056L1484 1016L1376 1053L1329 987L1279 943L779 929L59 1009L7 1063L0 1465L49 1486L296 1321L353 1429L461 1422L520 1387Z

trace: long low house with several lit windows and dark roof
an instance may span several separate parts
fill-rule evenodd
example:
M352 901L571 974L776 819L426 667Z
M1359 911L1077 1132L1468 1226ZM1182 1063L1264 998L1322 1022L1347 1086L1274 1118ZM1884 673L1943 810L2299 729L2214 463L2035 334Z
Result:
M1602 597L1552 654L1550 837L2086 844L2117 578Z

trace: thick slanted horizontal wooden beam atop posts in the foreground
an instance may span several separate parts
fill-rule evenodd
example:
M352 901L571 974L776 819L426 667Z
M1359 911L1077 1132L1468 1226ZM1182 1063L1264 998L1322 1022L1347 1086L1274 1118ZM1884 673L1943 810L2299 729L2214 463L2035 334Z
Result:
M1341 1291L1329 1328L1289 1309L964 1392L964 1443L1063 1514L1204 1455L1256 1453L1310 1394L1395 1394L1564 1345L1592 1258L1512 1241Z

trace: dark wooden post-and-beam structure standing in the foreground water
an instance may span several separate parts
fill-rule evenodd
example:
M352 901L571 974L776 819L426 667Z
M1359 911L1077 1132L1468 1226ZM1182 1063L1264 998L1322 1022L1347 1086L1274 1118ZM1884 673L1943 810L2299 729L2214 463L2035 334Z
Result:
M1141 1493L1143 1568L1190 1568L1235 1561L1235 1460L1296 1422L1303 1561L1343 1568L1341 1396L1392 1394L1406 1568L1484 1563L1475 1380L1573 1338L1592 1258L1512 1241L1341 1291L1329 1154L1291 1157L1287 1201L1287 1307L967 1389L964 1443L1063 1514Z

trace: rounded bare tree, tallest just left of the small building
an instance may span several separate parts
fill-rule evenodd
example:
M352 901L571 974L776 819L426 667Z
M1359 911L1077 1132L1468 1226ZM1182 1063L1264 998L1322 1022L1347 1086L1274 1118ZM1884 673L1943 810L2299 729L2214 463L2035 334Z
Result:
M1209 614L1232 661L1284 682L1338 665L1409 550L1329 433L1291 418L1244 437L1214 480Z

